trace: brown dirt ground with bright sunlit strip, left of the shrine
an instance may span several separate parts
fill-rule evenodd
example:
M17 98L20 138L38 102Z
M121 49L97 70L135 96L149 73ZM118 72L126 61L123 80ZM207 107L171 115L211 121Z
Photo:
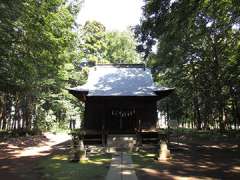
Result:
M38 160L67 148L70 136L45 133L0 142L0 179L41 179Z

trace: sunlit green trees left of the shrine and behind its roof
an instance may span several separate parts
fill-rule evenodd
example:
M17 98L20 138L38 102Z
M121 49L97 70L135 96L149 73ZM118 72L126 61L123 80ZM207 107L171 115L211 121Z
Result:
M0 130L49 130L80 122L84 105L66 88L85 83L87 60L140 60L131 32L76 23L82 1L0 2ZM80 117L81 116L81 117Z

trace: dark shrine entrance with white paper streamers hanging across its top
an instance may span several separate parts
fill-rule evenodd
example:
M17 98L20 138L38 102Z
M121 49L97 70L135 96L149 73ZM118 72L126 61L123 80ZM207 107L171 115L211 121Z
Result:
M135 108L111 109L107 119L107 130L109 133L134 133L137 127Z

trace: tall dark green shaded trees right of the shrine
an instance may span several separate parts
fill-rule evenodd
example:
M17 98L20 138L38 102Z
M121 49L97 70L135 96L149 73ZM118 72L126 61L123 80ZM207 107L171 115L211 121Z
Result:
M145 1L144 18L135 29L138 50L149 56L157 80L176 87L168 100L174 119L191 119L198 129L239 126L239 5Z

